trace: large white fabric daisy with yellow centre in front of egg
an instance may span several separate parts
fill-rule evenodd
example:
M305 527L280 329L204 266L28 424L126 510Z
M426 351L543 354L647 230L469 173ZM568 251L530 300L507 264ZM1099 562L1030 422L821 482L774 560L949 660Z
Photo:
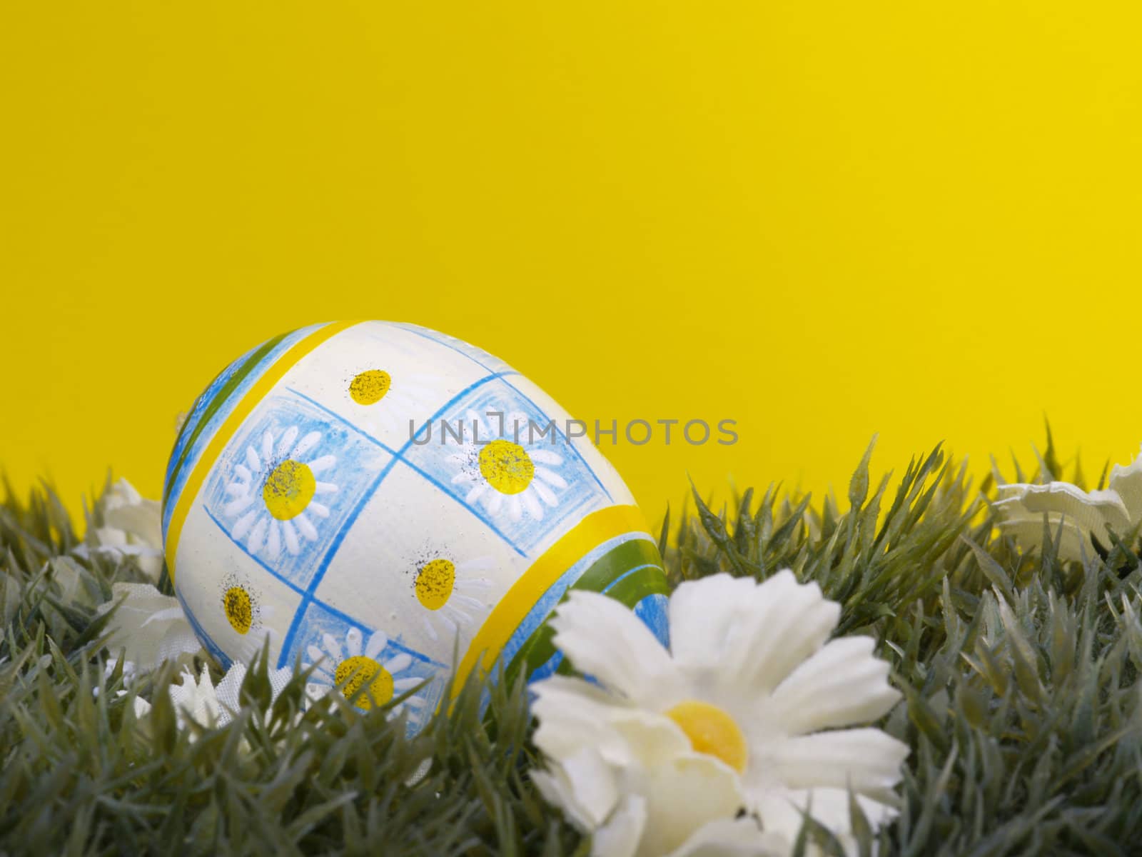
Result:
M791 571L762 584L715 575L675 591L667 651L617 601L572 592L552 620L555 643L600 687L532 686L534 740L550 762L539 787L595 832L600 857L691 854L694 836L729 835L739 807L764 830L747 836L754 823L733 823L738 847L753 849L742 854L789 852L803 811L854 849L850 788L874 830L890 822L908 747L844 728L900 694L870 638L828 641L838 618Z

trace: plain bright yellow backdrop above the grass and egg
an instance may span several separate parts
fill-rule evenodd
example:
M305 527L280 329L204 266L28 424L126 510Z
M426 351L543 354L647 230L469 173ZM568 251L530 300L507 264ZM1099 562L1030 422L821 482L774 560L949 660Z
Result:
M1139 5L0 5L0 464L156 495L175 416L317 320L481 345L657 516L946 439L1142 440Z

